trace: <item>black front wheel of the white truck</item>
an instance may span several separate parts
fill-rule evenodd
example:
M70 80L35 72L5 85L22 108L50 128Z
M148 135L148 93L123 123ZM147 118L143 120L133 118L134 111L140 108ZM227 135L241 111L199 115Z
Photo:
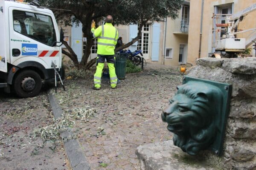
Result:
M20 97L37 96L42 88L42 79L32 70L21 71L14 79L15 93Z

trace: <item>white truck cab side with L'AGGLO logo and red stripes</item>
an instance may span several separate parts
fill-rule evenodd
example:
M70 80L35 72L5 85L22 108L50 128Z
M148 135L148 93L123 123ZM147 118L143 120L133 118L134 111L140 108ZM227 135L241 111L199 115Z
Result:
M53 61L57 68L61 66L60 47L54 46L58 27L53 19L54 16L46 12L9 8L11 64L35 61L50 69Z

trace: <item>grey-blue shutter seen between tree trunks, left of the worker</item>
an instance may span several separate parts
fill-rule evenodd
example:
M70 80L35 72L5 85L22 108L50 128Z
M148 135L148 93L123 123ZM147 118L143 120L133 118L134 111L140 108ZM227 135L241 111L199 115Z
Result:
M78 61L81 62L82 53L83 53L83 32L82 24L79 23L79 26L76 26L76 23L73 23L72 30L72 49L76 53Z

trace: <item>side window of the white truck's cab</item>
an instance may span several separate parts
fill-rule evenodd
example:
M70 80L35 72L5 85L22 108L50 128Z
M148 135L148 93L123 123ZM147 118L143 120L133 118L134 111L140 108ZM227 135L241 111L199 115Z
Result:
M52 46L56 35L52 18L26 11L13 11L14 30L36 41Z

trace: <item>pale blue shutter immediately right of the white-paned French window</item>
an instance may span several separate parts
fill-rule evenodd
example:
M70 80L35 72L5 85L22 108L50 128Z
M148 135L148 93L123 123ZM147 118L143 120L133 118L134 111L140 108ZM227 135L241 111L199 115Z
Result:
M152 37L151 61L159 60L160 23L154 23Z

